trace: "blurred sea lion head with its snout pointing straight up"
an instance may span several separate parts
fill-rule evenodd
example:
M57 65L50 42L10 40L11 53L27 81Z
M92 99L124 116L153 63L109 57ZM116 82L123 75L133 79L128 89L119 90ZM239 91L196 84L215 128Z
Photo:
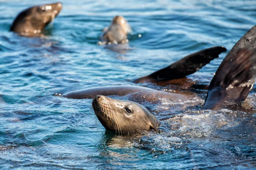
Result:
M101 44L124 44L128 42L127 34L131 32L131 27L124 17L116 16L113 18L111 25L102 31L100 37Z

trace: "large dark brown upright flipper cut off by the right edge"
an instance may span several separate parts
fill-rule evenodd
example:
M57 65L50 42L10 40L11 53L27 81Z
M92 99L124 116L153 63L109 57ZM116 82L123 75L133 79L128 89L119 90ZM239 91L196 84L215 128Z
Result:
M247 97L256 77L256 26L234 45L208 88L204 109L237 106Z

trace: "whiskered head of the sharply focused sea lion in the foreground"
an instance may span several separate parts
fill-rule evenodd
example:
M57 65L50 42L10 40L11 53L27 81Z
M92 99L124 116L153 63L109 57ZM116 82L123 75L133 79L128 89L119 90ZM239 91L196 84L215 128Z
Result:
M136 102L97 95L92 105L106 130L119 134L158 130L157 118Z

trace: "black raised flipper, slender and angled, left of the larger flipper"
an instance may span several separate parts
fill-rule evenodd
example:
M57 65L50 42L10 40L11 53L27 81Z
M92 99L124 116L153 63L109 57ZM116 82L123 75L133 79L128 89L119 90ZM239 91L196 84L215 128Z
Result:
M218 58L218 55L224 51L227 51L224 47L212 47L198 51L178 60L166 68L162 68L148 76L135 79L134 82L159 82L184 78L198 71L212 59Z

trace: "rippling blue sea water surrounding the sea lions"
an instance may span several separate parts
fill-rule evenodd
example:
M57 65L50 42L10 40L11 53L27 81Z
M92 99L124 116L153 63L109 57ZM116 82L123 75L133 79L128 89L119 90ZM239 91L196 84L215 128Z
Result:
M162 133L138 136L106 132L91 99L52 96L133 85L195 51L229 51L256 24L255 0L65 0L46 38L9 32L19 11L41 3L0 0L0 169L256 169L255 87L245 111L201 110L206 91L180 110L142 101L158 119L173 117ZM133 29L122 53L97 45L115 15ZM189 78L209 84L226 54Z

